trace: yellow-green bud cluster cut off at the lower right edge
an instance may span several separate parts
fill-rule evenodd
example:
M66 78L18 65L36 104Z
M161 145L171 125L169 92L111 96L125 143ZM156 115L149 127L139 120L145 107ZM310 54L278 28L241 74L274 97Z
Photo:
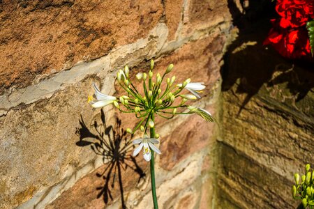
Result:
M314 208L314 170L310 171L310 164L306 164L305 173L300 176L294 174L295 185L292 186L292 196L294 199L300 199L304 208Z

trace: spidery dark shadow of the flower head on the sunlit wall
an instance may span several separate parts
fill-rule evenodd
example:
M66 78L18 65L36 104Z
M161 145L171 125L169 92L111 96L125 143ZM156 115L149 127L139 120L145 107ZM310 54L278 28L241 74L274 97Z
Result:
M103 156L103 163L107 164L102 173L97 173L96 176L103 178L105 181L102 187L97 187L99 190L97 198L103 196L103 201L107 204L109 199L113 200L112 189L114 183L118 180L119 191L121 194L122 208L126 208L124 202L124 186L121 171L132 169L138 174L138 181L146 175L137 164L135 157L130 153L133 150L132 141L126 137L126 131L121 128L121 120L117 118L115 127L107 126L105 122L105 114L100 110L100 123L96 120L91 127L87 127L82 115L80 119L80 128L77 128L77 134L80 135L80 141L77 141L77 146L90 146L96 155ZM93 132L96 131L96 134ZM93 139L93 142L87 139Z

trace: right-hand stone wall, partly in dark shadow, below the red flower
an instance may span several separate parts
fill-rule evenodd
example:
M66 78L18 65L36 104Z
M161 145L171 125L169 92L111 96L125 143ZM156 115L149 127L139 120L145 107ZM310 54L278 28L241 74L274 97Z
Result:
M245 15L232 14L239 33L221 70L218 206L297 208L293 174L314 163L314 65L262 45L274 3L250 1Z

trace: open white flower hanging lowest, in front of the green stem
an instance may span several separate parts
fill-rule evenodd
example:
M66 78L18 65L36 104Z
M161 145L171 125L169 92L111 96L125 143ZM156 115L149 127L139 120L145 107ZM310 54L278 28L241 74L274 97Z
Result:
M137 146L133 152L133 156L137 155L140 153L140 150L143 148L143 157L144 159L148 162L151 160L151 149L154 150L155 153L161 154L160 150L154 144L158 144L159 141L157 139L152 139L152 138L140 138L140 139L135 139L133 141L133 144L140 144L140 146Z

